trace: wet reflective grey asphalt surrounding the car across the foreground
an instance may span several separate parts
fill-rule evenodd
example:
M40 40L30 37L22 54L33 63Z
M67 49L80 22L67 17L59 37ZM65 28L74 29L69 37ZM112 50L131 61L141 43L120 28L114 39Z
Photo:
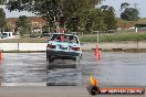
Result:
M146 85L146 53L103 53L96 61L93 52L84 52L77 68L46 69L45 53L4 53L0 63L2 86L85 85L90 75L101 85ZM72 62L56 61L70 65ZM74 64L75 65L75 64Z

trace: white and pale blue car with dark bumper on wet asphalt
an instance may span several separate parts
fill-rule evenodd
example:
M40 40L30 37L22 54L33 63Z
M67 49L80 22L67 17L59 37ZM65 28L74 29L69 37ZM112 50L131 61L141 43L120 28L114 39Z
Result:
M49 63L58 58L80 61L81 57L82 50L77 35L53 33L51 40L48 41L46 60Z

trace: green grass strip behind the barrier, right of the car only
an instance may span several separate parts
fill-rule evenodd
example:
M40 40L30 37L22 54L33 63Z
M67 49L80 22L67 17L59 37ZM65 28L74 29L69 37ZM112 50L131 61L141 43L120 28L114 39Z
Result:
M100 42L119 42L119 41L143 41L146 40L146 32L140 33L114 33L100 34ZM81 42L97 42L96 35L81 36Z

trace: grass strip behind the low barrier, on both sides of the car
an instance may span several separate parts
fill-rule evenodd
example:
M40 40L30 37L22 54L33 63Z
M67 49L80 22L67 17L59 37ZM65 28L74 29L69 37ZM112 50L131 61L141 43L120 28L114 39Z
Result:
M96 34L81 35L81 42L97 42ZM118 32L100 34L100 42L121 42L121 41L143 41L146 40L146 32ZM46 43L48 37L23 37L21 40L0 40L0 43Z

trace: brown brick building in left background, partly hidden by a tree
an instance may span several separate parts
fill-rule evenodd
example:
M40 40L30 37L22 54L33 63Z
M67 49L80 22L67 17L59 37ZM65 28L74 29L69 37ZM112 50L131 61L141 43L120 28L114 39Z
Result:
M10 31L14 32L15 29L15 22L18 21L19 18L8 18L7 19L7 24ZM29 18L31 21L31 28L32 32L42 32L42 26L46 25L46 21L43 20L42 18L38 17L30 17Z

